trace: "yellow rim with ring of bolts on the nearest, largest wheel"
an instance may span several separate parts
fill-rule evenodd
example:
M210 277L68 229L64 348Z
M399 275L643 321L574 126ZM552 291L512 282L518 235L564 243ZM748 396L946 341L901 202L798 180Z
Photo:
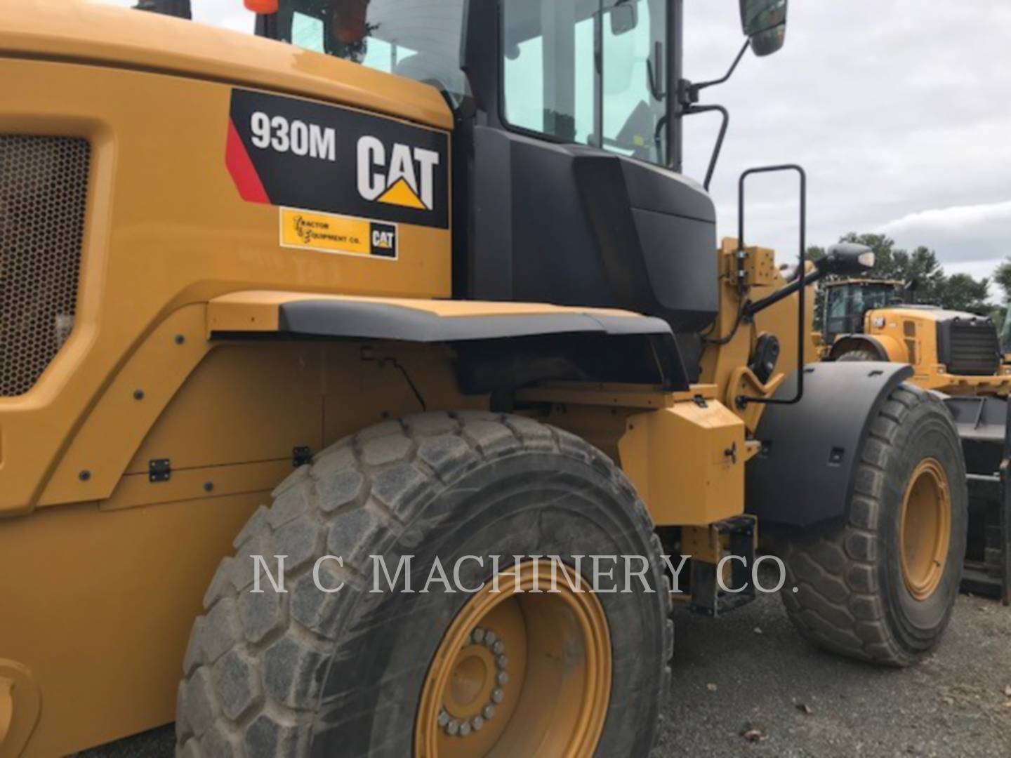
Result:
M515 575L509 565L497 591L488 582L443 637L422 690L415 753L592 755L610 695L611 637L588 585L559 563L530 561Z

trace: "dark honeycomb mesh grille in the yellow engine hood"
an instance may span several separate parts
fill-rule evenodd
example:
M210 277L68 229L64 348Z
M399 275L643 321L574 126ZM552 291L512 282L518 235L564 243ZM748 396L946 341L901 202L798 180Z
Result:
M91 148L0 134L0 397L27 392L74 326Z

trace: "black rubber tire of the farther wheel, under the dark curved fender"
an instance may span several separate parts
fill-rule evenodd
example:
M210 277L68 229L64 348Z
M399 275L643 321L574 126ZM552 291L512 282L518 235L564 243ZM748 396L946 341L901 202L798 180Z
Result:
M907 588L902 569L902 503L917 466L931 458L947 478L950 542L937 588L920 600ZM871 421L845 522L780 546L787 565L782 595L797 629L850 658L915 663L937 645L954 606L968 502L966 466L950 414L919 387L901 385Z

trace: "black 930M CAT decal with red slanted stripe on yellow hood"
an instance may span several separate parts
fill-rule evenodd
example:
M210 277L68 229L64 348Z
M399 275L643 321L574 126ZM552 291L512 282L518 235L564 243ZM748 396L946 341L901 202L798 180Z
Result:
M241 89L232 91L229 116L225 165L243 199L449 227L445 132Z

